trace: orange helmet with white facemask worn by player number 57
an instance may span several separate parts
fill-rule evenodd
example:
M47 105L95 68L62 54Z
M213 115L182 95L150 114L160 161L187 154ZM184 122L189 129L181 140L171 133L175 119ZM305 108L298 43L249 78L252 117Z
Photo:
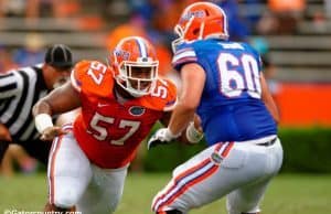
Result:
M159 61L152 44L140 36L119 41L111 55L116 83L134 97L153 92Z

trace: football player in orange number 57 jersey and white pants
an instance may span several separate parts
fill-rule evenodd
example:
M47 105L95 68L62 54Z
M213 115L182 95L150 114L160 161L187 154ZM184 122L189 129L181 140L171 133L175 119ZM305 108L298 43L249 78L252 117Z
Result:
M41 138L54 138L45 211L115 211L139 143L158 120L167 124L177 103L177 88L158 77L158 64L147 40L125 38L113 51L110 66L77 63L71 83L34 106ZM82 111L73 125L53 126L51 115L77 107Z

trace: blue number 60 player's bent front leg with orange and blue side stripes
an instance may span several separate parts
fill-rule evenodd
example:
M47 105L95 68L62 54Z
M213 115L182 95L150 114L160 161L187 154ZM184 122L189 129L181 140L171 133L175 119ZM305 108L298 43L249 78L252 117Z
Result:
M264 178L269 160L266 149L256 147L225 142L200 152L174 170L170 183L153 199L153 212L178 210L185 213ZM252 156L252 151L256 156Z

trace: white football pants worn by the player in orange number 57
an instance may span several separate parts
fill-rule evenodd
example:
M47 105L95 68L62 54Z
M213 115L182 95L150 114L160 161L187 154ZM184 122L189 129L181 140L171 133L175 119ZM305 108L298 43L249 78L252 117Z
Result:
M84 214L113 213L122 195L127 168L100 169L86 158L72 132L55 138L47 178L50 203Z

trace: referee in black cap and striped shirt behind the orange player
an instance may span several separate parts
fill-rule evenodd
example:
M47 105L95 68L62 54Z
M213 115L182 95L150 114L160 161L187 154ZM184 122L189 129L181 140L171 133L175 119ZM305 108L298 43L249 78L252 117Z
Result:
M0 163L9 143L21 145L30 156L47 163L52 142L39 139L32 107L68 78L72 66L70 47L55 44L46 50L43 64L0 75Z

